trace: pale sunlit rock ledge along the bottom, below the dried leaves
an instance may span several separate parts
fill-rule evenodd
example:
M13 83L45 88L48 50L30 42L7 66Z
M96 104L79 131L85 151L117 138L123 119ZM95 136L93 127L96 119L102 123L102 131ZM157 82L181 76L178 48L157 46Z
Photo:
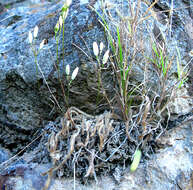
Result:
M79 183L78 179L75 179L75 187L78 190L192 190L192 138L192 125L180 125L180 127L171 129L160 138L160 147L162 148L158 153L151 156L148 161L144 160L143 163L139 165L136 172L130 173L129 169L126 169L120 176L118 183L115 183L115 180L108 176L100 176L98 178L98 184L91 182L90 185L82 185ZM12 175L10 174L11 177L7 178L4 185L14 190L39 190L44 186L46 180L41 176L41 173L46 171L49 167L48 165L18 164L15 170L13 169ZM3 176L0 175L0 181L2 179ZM73 179L63 178L53 178L50 186L52 190L67 190L73 188Z

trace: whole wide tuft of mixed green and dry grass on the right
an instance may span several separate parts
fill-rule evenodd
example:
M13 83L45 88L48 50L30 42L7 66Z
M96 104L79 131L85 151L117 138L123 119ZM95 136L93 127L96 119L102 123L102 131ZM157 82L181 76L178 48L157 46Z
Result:
M145 13L141 11L142 1L137 1L136 4L128 1L128 16L123 16L123 13L117 8L112 8L112 11L119 16L118 21L114 20L111 11L104 8L108 6L103 3L102 1L102 13L96 10L95 12L104 28L110 50L109 62L114 71L116 82L114 99L120 106L128 139L132 142L135 141L136 146L139 147L148 136L152 135L152 130L163 128L164 114L168 115L167 119L169 120L169 103L174 100L176 90L187 80L187 72L181 70L181 58L179 50L177 50L178 81L177 83L171 82L172 67L175 63L174 56L171 57L167 52L167 43L164 41L166 39L159 42L151 32L146 34L145 39L142 38L141 24L150 17L156 18L152 8L157 0L152 4L147 3L148 8ZM171 33L171 25L169 32ZM149 40L151 44L150 55L141 45L144 40ZM99 63L98 52L97 50L94 54ZM141 58L138 57L138 54L141 55ZM139 82L133 80L136 67L140 68L144 74L144 79ZM98 78L101 78L101 70L98 72ZM100 79L99 87L104 91L102 83L103 81ZM115 104L111 104L112 112L115 106ZM137 138L132 136L132 131L135 133L133 128L140 131ZM131 171L136 170L141 158L141 151L136 152Z

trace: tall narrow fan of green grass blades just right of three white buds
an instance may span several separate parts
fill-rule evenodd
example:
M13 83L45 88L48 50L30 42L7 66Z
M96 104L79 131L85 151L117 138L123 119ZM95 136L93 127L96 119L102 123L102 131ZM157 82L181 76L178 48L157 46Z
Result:
M103 6L104 7L104 6ZM134 13L134 7L130 7L130 12ZM139 4L137 4L137 9L139 9ZM103 14L98 14L99 22L102 24L111 48L112 56L111 63L116 81L118 82L119 89L116 90L116 94L119 97L118 104L121 106L121 112L123 119L127 121L129 119L129 110L133 97L131 94L135 92L137 86L140 85L130 85L130 75L132 72L132 67L134 64L134 59L137 54L136 42L134 38L136 37L136 28L138 25L138 11L135 14L131 15L131 18L124 18L120 12L117 11L117 14L120 16L120 24L115 26L115 30L112 30L112 27L108 25L107 13L103 9ZM109 18L110 22L113 18ZM133 51L129 50L128 44L133 45ZM128 62L128 57L130 61ZM132 86L131 89L129 89Z

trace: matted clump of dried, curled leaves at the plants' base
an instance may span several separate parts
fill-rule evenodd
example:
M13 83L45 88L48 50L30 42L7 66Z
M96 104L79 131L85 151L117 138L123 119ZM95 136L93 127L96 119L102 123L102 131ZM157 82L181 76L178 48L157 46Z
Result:
M149 106L146 97L139 108L141 112L131 116L126 124L115 120L111 112L94 117L75 107L69 108L60 124L47 131L47 149L53 166L42 174L48 175L43 190L49 187L55 172L58 176L75 175L83 181L94 177L97 181L97 174L130 163L136 148L150 142L152 131L156 130L153 126L147 129Z

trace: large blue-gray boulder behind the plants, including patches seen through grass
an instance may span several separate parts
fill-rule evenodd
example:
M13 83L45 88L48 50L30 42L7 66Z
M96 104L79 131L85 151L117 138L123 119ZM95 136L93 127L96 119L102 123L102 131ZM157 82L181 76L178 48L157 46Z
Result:
M86 112L96 112L97 110L97 74L93 75L95 63L86 57L73 44L82 48L87 54L92 56L93 41L105 42L103 28L97 22L97 15L91 11L86 1L73 1L72 6L65 23L64 31L64 63L62 57L62 36L59 43L59 72L65 92L67 93L67 81L65 78L65 65L70 64L71 70L76 66L80 67L77 79L70 88L69 105L74 105ZM120 3L120 2L119 2ZM118 3L118 5L119 5ZM28 43L28 32L39 26L39 34L35 41L36 48L43 39L48 43L39 53L37 60L48 82L51 91L57 98L60 107L64 111L67 104L64 98L61 83L58 80L58 71L56 70L56 41L54 38L54 26L58 20L63 1L53 4L38 4L36 8L18 7L9 10L0 15L0 107L2 111L0 119L21 126L25 129L38 128L42 121L52 120L61 111L45 85L45 81L34 61L34 55ZM99 2L93 4L99 9ZM178 4L180 6L180 4ZM143 4L144 10L147 5ZM163 7L163 6L162 6ZM163 7L165 8L165 7ZM115 14L112 12L112 14ZM188 11L176 12L178 25L175 25L172 41L168 42L168 49L171 56L176 53L176 44L179 44L181 57L187 56L191 47L190 37L182 30L184 28L185 17L188 17ZM183 16L183 17L182 17ZM141 27L139 35L147 38L146 25L153 30L155 20L151 19ZM174 22L175 23L175 22ZM110 25L111 23L109 23ZM165 26L158 23L160 30L164 32ZM113 26L112 26L113 29ZM183 35L183 36L182 36ZM83 40L84 39L84 40ZM180 39L180 40L179 40ZM86 44L85 44L86 42ZM148 40L143 44L147 55L151 52ZM87 47L89 49L87 49ZM132 52L132 47L130 47ZM136 56L133 73L133 80L136 83L143 81L142 55ZM92 69L92 71L91 71ZM174 67L174 71L176 69ZM96 69L94 69L96 73ZM113 77L110 74L104 74L104 86L108 94L113 95ZM156 87L158 78L151 76L152 86ZM111 81L111 82L109 82ZM94 90L95 89L95 90ZM102 107L101 110L104 110ZM53 111L51 111L53 110ZM100 112L100 109L97 111Z

